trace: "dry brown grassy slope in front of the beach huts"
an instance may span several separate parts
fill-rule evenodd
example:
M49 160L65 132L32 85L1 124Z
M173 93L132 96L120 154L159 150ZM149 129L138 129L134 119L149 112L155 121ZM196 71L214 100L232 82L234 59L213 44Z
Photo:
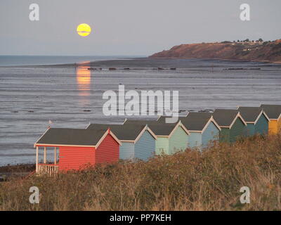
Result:
M281 210L281 135L0 183L0 210ZM37 186L40 203L29 203ZM250 188L250 204L240 188Z

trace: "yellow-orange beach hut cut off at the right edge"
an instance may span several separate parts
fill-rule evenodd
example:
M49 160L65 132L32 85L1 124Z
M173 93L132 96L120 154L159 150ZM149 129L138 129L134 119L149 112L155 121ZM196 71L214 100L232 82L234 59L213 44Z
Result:
M281 129L281 105L261 105L269 117L268 134L277 134Z

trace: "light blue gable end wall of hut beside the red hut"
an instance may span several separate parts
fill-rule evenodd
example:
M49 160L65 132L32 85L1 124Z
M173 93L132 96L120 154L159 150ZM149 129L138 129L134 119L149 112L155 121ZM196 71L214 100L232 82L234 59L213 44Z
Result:
M155 139L147 130L135 143L135 158L148 160L155 155Z

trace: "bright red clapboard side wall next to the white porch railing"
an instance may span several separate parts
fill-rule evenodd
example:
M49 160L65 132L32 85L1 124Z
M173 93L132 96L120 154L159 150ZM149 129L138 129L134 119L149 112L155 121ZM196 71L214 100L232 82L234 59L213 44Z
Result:
M60 147L59 170L83 169L88 165L95 165L95 148L86 147Z

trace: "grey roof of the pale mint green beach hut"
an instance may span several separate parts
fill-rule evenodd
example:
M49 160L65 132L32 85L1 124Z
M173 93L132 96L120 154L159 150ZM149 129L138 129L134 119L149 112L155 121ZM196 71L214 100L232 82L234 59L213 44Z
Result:
M126 120L124 124L148 124L152 132L158 136L169 136L176 127L176 124L164 124L155 120Z

